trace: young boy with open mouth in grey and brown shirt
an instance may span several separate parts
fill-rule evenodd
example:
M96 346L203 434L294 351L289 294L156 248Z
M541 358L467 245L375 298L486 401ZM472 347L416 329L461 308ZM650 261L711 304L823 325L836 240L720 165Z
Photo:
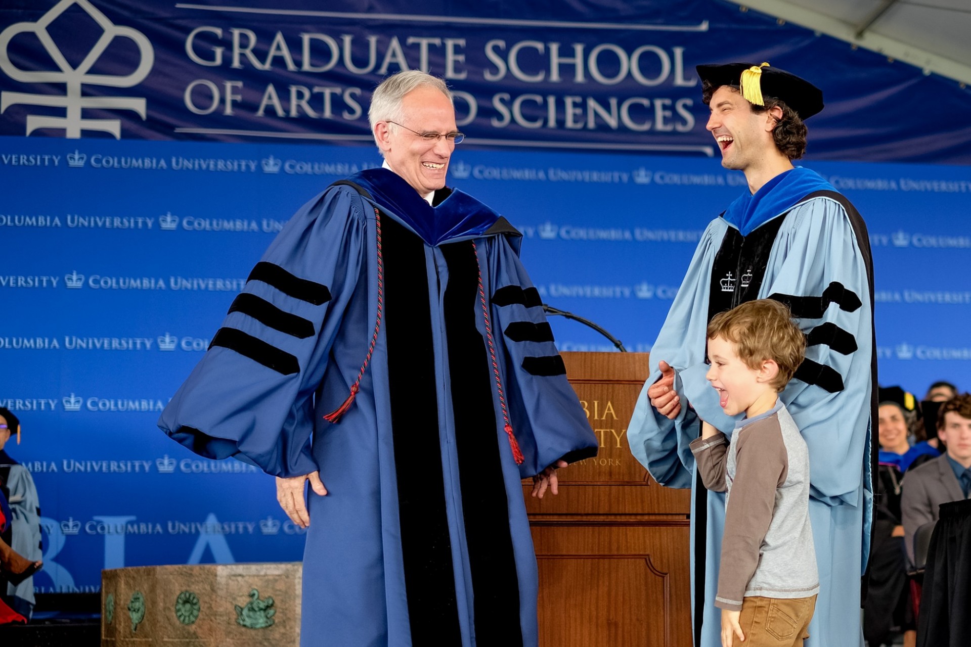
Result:
M706 377L727 415L744 414L731 441L708 423L691 442L705 487L725 494L719 590L723 647L803 644L820 590L809 522L809 454L777 397L806 338L768 299L708 324Z

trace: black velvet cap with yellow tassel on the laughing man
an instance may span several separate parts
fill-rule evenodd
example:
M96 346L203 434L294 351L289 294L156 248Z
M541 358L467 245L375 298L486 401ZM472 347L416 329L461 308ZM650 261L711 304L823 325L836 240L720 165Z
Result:
M698 65L694 68L701 81L713 87L733 85L742 96L756 106L764 106L763 97L785 101L786 105L806 120L822 110L822 90L805 79L768 63L725 63L723 65Z

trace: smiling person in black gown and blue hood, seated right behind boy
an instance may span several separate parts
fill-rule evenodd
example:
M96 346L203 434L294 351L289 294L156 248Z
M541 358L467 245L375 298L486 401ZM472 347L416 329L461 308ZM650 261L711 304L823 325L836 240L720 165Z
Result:
M892 389L881 389L880 392L881 397L897 395ZM874 483L877 507L870 551L870 579L863 605L863 637L870 647L892 644L898 631L904 633L904 645L913 645L917 641L908 604L904 528L900 518L905 469L901 463L909 449L906 419L903 404L891 401L880 404L880 467Z

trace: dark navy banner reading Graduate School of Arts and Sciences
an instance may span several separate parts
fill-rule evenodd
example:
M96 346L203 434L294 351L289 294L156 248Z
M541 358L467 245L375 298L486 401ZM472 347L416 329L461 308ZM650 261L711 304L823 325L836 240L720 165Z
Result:
M824 90L817 159L971 162L971 90L723 0L325 8L7 0L0 134L363 142L372 88L418 68L450 82L470 144L712 156L694 66L749 60Z

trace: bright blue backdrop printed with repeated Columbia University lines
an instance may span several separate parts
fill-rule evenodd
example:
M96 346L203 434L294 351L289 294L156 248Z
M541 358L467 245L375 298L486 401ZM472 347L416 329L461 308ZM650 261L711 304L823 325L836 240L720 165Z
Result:
M371 146L3 138L0 404L46 516L42 590L94 589L105 566L297 560L271 478L201 460L161 407L274 233ZM967 209L959 167L817 163L867 218L880 371L920 392L968 383ZM452 184L505 214L545 302L650 350L707 221L744 177L717 161L459 148ZM919 214L915 217L915 214ZM562 350L612 350L552 320ZM323 475L326 481L326 474ZM101 559L104 555L104 559ZM92 559L92 556L95 556Z

